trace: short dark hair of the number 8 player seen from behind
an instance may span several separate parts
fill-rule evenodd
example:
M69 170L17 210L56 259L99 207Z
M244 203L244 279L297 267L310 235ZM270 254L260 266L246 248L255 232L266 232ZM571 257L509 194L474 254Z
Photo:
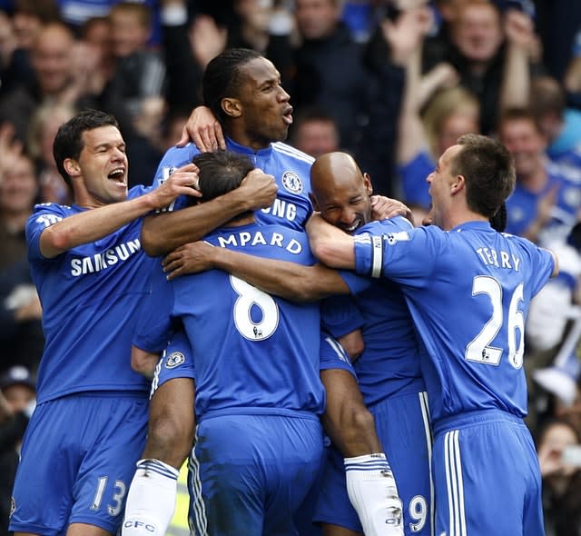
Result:
M246 155L231 151L197 154L192 163L200 169L198 188L202 192L202 201L210 201L238 188L242 179L254 169Z

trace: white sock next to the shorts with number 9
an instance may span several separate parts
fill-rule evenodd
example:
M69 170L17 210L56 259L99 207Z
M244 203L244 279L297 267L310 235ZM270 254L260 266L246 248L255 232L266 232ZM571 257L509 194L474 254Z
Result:
M347 491L365 536L403 536L398 487L383 452L345 458Z

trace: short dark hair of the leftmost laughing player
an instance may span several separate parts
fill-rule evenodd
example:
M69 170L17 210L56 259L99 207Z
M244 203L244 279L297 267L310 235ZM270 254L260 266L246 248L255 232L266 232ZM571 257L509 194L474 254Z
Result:
M117 120L111 114L100 110L83 110L72 119L62 124L54 136L53 156L59 173L64 182L72 186L71 177L64 170L64 161L67 158L78 160L84 148L83 133L100 126L112 125L119 128Z

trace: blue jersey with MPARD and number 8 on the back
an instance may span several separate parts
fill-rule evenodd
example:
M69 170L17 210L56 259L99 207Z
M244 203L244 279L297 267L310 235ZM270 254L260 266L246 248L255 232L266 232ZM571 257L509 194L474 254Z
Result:
M222 227L206 241L261 257L314 263L306 233L281 225ZM170 283L164 283L162 273L157 277L133 343L159 352L172 319L181 321L192 346L199 417L323 411L318 303L291 303L220 270Z

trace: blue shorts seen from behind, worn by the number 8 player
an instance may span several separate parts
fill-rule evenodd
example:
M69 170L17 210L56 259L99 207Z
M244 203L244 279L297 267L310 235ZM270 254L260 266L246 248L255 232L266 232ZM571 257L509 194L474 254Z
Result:
M189 462L193 533L296 536L293 518L322 457L323 432L315 415L204 418Z

